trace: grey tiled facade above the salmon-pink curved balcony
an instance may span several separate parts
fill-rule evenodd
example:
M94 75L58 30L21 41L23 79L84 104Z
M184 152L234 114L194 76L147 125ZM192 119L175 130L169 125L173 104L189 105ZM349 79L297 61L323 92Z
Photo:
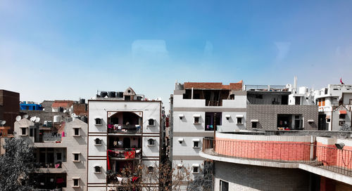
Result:
M317 105L247 105L246 129L253 130L251 119L258 119L257 129L277 130L277 114L301 114L304 130L318 130Z

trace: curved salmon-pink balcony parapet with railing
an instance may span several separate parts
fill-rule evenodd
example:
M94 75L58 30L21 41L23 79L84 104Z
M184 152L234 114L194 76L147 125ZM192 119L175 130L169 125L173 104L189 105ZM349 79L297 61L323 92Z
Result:
M206 154L269 162L293 162L352 176L352 150L307 143L268 143L203 138Z

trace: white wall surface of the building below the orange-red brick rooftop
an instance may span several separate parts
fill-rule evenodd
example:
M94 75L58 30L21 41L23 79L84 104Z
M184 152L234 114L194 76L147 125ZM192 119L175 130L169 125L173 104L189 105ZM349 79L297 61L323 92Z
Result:
M206 106L205 99L184 99L185 92L175 90L173 95L172 164L193 171L194 166L203 166L204 159L199 156L199 152L203 138L213 137L213 130L206 131L206 122L210 120L208 124L213 124L213 119L209 118L214 118L215 113L221 121L221 125L217 126L218 131L246 129L246 91L234 91L234 97L231 100L222 99L221 106ZM241 118L241 124L237 124L237 118Z

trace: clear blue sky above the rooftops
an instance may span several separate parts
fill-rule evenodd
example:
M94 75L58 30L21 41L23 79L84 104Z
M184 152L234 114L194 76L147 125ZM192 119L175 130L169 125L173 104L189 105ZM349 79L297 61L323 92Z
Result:
M352 1L0 0L0 88L20 100L175 81L352 84Z

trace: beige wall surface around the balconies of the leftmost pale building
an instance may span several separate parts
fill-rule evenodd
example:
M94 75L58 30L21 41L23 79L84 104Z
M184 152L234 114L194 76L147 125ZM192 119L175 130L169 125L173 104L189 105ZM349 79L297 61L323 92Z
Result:
M40 166L39 173L44 173L44 177L49 179L52 178L53 181L49 180L51 183L58 181L58 178L64 178L65 187L63 187L63 190L87 190L87 124L80 121L80 119L74 119L68 123L61 124L61 126L64 126L64 133L40 139L37 138L37 135L39 135L39 131L44 131L41 129L45 128L41 127L39 129L39 126L37 126L38 128L34 131L35 126L36 124L25 118L16 121L15 137L23 138L30 145L36 147L35 157L37 162L50 165ZM77 135L75 135L74 129L78 129L78 132L76 131ZM54 139L47 140L49 138ZM77 155L75 156L75 154ZM75 157L77 158L75 159ZM57 163L61 163L60 168L51 166L51 164ZM51 174L53 177L51 177ZM54 174L61 174L62 176L58 177L54 176ZM49 187L46 187L48 182L46 182L45 178L38 181L42 183L43 188L49 189Z

